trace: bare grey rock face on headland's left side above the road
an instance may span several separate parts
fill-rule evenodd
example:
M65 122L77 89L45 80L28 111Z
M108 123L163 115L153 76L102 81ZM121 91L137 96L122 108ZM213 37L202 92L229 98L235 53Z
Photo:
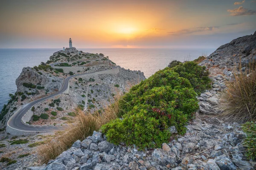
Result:
M25 91L23 83L32 83L33 85L46 85L47 82L49 82L49 80L44 74L41 75L34 69L26 67L22 69L20 76L16 79L17 91Z

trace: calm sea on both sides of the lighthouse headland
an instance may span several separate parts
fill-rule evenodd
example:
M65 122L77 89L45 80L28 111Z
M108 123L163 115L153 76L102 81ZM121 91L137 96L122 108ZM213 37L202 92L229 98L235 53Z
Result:
M47 62L61 48L0 49L0 110L17 90L15 80L22 68ZM78 48L89 53L102 53L125 69L140 70L145 77L165 68L172 60L193 60L209 55L215 48Z

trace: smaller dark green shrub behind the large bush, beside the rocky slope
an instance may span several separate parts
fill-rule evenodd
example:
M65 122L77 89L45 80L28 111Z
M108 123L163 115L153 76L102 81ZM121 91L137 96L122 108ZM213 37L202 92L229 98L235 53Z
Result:
M209 71L206 70L205 66L202 67L190 61L181 63L172 69L178 73L180 77L188 79L197 94L201 94L201 92L212 87L212 81L208 77Z

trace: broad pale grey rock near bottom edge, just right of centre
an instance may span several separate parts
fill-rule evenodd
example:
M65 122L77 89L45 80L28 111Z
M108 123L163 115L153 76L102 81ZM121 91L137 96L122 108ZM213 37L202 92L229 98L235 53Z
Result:
M174 153L166 152L162 149L155 149L151 155L152 159L160 165L170 164L171 167L177 166L177 160Z

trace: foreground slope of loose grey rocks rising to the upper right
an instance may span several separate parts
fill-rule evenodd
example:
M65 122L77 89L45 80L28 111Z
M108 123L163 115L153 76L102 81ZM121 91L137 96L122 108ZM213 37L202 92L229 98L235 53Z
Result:
M55 160L28 170L253 170L255 162L247 161L241 145L245 133L236 122L218 119L220 92L225 81L232 79L241 57L242 66L256 58L256 33L222 45L200 63L206 65L212 78L212 89L198 96L200 109L186 127L184 136L175 127L169 143L162 148L138 151L136 146L113 145L100 132L84 141L76 141ZM246 68L243 68L246 69Z

